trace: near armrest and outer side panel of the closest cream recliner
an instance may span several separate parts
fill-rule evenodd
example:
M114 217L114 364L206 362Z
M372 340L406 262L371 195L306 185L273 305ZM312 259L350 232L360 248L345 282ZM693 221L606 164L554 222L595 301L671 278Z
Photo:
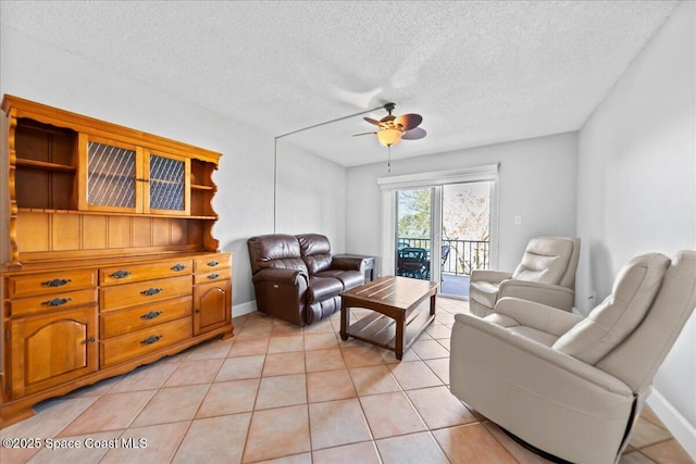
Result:
M455 316L449 376L461 401L576 463L614 462L636 403L622 379L468 314Z

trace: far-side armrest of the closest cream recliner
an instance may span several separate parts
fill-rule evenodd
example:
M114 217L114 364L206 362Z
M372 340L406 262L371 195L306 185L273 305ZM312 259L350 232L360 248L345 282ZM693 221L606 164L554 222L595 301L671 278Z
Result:
M494 313L513 318L520 325L552 334L557 337L566 334L584 317L557 308L519 298L498 300Z

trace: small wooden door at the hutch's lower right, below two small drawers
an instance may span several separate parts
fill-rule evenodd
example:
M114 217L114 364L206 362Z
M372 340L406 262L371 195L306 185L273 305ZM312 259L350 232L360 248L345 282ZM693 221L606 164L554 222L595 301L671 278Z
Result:
M194 287L194 335L232 322L232 281L222 280Z

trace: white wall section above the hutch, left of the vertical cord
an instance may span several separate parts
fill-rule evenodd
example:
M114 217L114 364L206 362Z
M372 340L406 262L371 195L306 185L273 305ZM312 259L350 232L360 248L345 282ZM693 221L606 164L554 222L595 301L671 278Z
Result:
M233 304L253 300L246 239L273 229L272 135L208 111L3 25L0 93L223 153L213 235L233 251Z

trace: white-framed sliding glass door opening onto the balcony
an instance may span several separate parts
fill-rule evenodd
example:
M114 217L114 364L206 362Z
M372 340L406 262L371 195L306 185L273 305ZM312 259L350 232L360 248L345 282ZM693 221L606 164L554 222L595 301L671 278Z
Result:
M377 179L380 275L440 283L469 298L471 273L498 265L499 164Z

